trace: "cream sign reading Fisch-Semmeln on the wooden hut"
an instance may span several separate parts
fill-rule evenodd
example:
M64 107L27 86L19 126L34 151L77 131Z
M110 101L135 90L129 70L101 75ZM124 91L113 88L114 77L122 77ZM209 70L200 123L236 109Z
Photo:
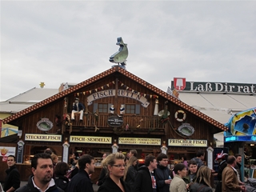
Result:
M112 138L70 135L70 142L112 144Z

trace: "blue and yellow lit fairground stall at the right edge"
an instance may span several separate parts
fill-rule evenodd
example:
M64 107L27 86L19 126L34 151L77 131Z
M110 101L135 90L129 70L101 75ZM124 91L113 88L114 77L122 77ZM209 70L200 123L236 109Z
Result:
M225 132L229 154L242 154L242 178L256 178L256 107L234 114Z

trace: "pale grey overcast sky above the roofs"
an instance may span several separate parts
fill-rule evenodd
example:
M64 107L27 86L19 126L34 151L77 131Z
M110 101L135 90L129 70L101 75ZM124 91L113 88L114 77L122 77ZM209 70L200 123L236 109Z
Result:
M0 101L109 70L118 37L126 70L166 91L190 82L255 83L255 1L1 1Z

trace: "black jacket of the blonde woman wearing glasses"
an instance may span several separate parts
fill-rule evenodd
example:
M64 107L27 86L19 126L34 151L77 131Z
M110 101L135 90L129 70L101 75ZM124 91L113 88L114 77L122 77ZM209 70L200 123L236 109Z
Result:
M130 185L122 181L122 179L120 179L120 182L125 190L124 192L132 192ZM122 192L122 190L110 177L107 177L105 182L98 188L98 192Z

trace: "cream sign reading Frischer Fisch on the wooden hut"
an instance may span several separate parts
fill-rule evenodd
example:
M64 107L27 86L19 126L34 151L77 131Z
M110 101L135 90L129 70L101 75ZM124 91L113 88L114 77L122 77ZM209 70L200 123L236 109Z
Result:
M207 140L199 139L168 139L168 146L207 146Z

